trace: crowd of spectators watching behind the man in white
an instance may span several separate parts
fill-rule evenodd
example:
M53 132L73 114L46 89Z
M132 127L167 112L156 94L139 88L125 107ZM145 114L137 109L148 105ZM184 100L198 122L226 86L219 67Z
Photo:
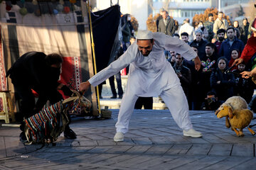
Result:
M247 18L242 20L242 26L238 21L228 26L220 11L215 21L213 14L209 13L208 21L200 21L196 25L193 28L186 18L177 32L179 38L198 53L202 62L199 72L194 69L193 62L183 59L178 53L171 51L166 54L166 59L181 80L190 110L215 110L231 96L241 96L250 103L256 86L251 79L242 78L240 73L250 71L252 66L242 62L230 72L225 72L240 57L247 37L250 37Z

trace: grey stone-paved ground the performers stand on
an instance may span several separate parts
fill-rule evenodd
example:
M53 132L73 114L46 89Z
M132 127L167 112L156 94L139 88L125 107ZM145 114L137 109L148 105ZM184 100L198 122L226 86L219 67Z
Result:
M55 146L23 146L18 128L0 127L0 169L256 169L256 136L245 129L245 137L236 137L211 111L190 112L203 132L192 138L167 110L135 110L118 143L112 140L117 113L107 120L73 118L78 139L59 137Z

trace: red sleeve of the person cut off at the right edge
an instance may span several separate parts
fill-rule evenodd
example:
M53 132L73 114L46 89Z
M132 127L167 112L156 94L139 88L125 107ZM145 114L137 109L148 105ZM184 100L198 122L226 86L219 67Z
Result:
M249 62L252 55L256 52L256 37L251 37L247 40L244 50L242 50L241 58L245 63Z

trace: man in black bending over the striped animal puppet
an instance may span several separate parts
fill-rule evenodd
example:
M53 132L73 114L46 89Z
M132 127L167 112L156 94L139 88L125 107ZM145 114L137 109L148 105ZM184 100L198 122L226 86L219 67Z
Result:
M47 101L50 105L63 99L58 90L65 96L72 96L68 86L58 83L63 58L58 54L46 55L43 52L27 52L18 58L11 69L6 73L10 76L14 89L21 99L21 118L30 118L39 113ZM33 89L39 95L38 101L31 91ZM26 142L24 133L25 123L21 123L21 142ZM69 125L65 127L64 136L75 139L76 135Z

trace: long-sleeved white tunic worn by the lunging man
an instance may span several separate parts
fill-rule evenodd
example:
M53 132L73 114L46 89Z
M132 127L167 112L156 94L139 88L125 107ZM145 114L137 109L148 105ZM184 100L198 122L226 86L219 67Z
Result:
M183 40L164 33L153 33L153 39L154 45L149 56L144 57L134 42L118 60L89 79L90 84L97 86L129 64L126 93L144 97L159 96L162 91L180 84L174 69L164 56L164 50L178 52L186 60L195 58L196 52Z

